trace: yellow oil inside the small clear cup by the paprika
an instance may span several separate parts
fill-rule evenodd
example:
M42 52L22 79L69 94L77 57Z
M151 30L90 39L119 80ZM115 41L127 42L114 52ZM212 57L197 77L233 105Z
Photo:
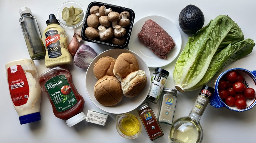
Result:
M124 118L119 126L120 131L127 136L136 135L139 132L139 120L134 118Z

